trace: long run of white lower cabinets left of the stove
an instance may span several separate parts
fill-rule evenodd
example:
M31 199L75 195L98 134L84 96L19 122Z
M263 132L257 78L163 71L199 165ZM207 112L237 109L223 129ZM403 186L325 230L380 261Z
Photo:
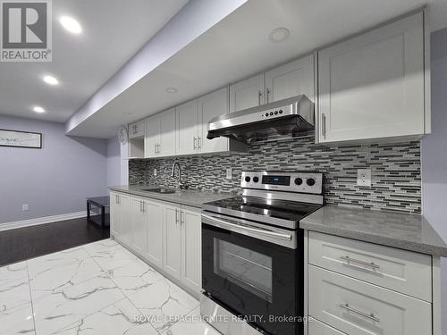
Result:
M111 234L184 289L201 289L200 209L111 192Z

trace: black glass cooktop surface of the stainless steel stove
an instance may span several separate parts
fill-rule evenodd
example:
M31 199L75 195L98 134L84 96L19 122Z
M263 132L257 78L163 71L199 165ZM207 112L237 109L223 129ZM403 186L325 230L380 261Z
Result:
M299 220L320 208L321 205L284 200L270 200L260 197L231 197L204 204L207 211L228 214L240 218L282 225L293 222L290 228L297 228ZM290 224L289 224L290 225Z

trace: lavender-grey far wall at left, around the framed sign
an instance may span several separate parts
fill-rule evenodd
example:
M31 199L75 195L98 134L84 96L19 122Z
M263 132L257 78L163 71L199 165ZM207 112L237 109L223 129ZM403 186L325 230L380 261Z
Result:
M1 115L0 129L43 133L41 150L0 147L0 223L79 212L86 197L105 194L105 140L66 137L62 123Z

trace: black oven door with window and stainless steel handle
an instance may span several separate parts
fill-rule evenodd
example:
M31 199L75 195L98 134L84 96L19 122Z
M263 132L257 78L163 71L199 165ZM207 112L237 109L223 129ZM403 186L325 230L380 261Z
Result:
M204 212L202 287L255 327L302 334L303 242L302 230Z

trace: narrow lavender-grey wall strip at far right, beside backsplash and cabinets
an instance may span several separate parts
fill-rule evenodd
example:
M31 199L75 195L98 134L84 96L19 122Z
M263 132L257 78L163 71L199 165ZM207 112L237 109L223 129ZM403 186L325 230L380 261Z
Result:
M423 212L447 240L447 29L432 34L432 134L422 140ZM447 260L443 259L443 335L447 335Z

